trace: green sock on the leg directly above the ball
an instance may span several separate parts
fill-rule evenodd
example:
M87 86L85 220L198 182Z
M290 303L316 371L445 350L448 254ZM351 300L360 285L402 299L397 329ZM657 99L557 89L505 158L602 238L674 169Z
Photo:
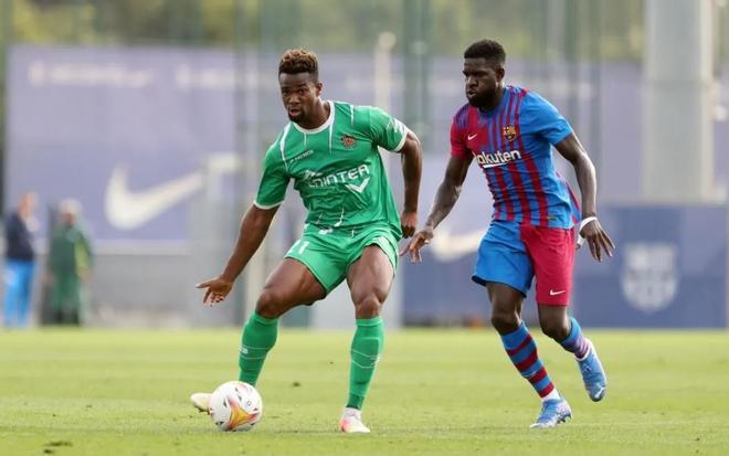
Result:
M243 328L241 353L237 365L241 368L239 380L255 385L268 350L276 343L278 318L265 318L256 312L251 315Z

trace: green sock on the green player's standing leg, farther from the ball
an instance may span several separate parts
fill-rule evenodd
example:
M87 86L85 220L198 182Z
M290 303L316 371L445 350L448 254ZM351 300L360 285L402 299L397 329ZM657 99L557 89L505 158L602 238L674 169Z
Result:
M350 351L348 407L362 409L367 389L370 386L374 368L382 353L383 343L384 327L381 317L357 320L357 330Z

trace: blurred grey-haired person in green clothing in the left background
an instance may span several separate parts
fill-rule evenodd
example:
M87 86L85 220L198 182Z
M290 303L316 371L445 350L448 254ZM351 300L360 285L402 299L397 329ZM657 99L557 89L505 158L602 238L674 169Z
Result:
M92 250L80 213L76 200L61 202L60 223L51 233L46 279L51 286L51 321L56 325L81 325L83 320Z

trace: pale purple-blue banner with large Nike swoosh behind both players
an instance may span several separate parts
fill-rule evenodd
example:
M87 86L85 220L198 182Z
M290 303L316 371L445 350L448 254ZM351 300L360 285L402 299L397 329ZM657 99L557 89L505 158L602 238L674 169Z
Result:
M241 157L263 156L287 120L278 95L277 54L17 45L8 56L6 206L29 190L39 193L42 205L76 198L99 242L189 240L191 201L210 190L210 174L228 194L240 194L234 178ZM319 59L325 97L374 102L371 55L320 54ZM388 103L399 116L402 61L398 55L392 59ZM640 65L602 65L599 87L568 81L570 73L561 64L535 65L540 64L510 62L508 82L539 92L572 117L582 142L599 161L601 200L632 198L640 191L641 174L634 160L641 144ZM447 157L451 118L465 103L461 70L459 57L436 56L431 62L426 117L433 128L416 132L427 137L424 146L436 160ZM577 94L574 106L580 113L598 109L601 130L611 134L590 138L582 117L566 110L570 94ZM727 94L722 97L725 106ZM726 144L729 124L716 123L715 136L717 145ZM725 156L717 152L717 180L726 188ZM436 184L443 169L432 168L423 180ZM571 170L566 176L572 176ZM478 200L487 194L483 182L472 187L480 188L462 198ZM422 212L433 193L423 192ZM479 205L478 220L488 220L490 212L482 212L483 208L487 204ZM453 224L456 235L473 213L464 216L465 223L457 219Z

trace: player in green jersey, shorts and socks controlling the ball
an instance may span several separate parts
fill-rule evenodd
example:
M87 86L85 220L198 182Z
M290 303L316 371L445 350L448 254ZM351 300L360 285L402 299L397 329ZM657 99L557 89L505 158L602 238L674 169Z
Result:
M320 98L323 84L313 52L289 50L278 64L281 96L289 123L268 148L255 202L241 222L221 275L203 282L203 303L223 300L261 245L290 180L308 211L302 237L266 280L243 328L241 381L255 385L276 343L278 317L311 304L347 280L357 330L351 342L349 399L339 428L369 433L361 409L382 352L380 310L398 267L398 241L418 224L422 152L402 123L370 106ZM404 206L392 197L378 147L402 157ZM208 411L209 394L192 403Z

